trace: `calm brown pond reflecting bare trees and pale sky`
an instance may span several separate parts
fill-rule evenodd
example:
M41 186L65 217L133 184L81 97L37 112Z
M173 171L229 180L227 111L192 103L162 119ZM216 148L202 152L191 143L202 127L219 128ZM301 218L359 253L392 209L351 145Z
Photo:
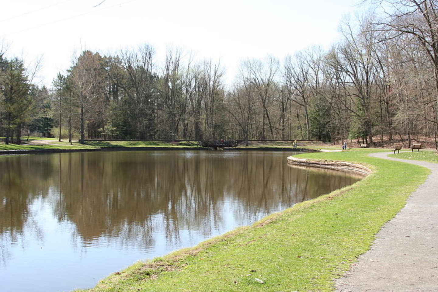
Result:
M350 185L290 152L120 151L0 157L0 290L89 288Z

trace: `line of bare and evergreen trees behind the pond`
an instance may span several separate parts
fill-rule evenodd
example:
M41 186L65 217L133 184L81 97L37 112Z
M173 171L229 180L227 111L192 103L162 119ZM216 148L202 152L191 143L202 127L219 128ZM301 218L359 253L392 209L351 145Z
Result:
M157 65L144 45L113 55L85 50L51 88L0 51L0 136L239 139L391 143L435 137L438 7L387 0L387 13L346 20L342 38L279 60L244 60L233 84L219 62L168 49ZM52 130L53 132L53 130Z

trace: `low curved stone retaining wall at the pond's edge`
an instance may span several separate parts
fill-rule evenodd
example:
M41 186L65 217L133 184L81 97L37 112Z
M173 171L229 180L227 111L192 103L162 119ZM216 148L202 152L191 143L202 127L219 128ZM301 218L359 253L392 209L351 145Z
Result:
M372 172L371 169L367 168L364 165L355 164L351 162L343 162L343 161L310 160L306 158L296 158L293 156L289 156L287 158L287 163L293 165L311 166L311 167L318 167L324 169L350 171L350 172L361 174L363 176L370 175Z

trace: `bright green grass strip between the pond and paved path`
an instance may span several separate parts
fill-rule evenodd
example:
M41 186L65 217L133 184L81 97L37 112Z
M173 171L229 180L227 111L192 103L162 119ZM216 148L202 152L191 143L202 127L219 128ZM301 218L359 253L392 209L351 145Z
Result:
M373 151L299 155L363 163L374 172L253 226L134 264L90 291L332 291L333 278L369 249L381 226L429 173L368 157Z

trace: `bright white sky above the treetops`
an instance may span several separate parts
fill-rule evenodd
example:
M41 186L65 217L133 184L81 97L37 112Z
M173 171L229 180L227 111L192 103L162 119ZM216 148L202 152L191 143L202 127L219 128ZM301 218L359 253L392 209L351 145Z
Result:
M162 59L166 46L221 60L227 80L240 60L271 54L283 59L311 45L338 39L358 0L2 0L0 42L8 56L31 63L51 84L83 49L106 54L148 43Z

